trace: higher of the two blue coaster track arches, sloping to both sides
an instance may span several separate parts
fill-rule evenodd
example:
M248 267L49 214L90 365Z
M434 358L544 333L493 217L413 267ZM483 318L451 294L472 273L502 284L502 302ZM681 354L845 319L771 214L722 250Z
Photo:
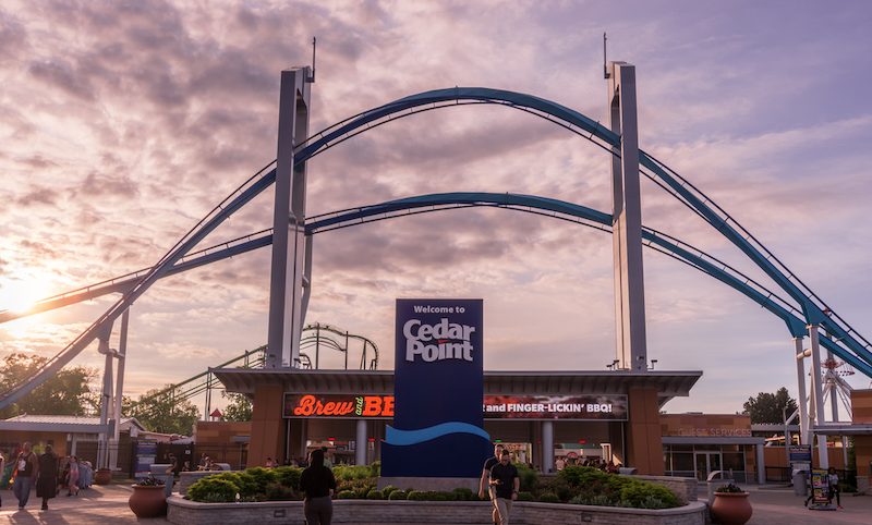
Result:
M620 135L569 108L549 100L514 91L456 87L405 97L334 124L314 134L295 148L294 167L302 166L308 159L320 155L360 133L364 133L388 122L423 111L474 103L507 106L534 114L565 127L571 133L592 142L615 156L619 156L621 146ZM790 270L768 252L762 243L690 182L642 150L639 151L639 162L641 173L690 208L722 235L727 237L727 240L744 253L751 261L761 268L797 303L799 309L802 312L802 319L798 319L794 314L789 314L788 317L782 315L782 318L787 322L788 329L794 338L801 339L806 337L806 327L808 326L822 326L828 333L835 335L836 339L827 343L827 339L822 338L821 344L860 369L867 376L872 377L872 352L870 352L872 344L870 344L868 340L862 338L859 332L838 317L823 300L806 286L806 284L790 272ZM45 366L35 370L31 376L5 392L0 393L0 408L13 403L65 366L90 344L101 330L106 330L107 326L111 327L111 323L113 323L134 301L144 294L158 279L165 277L173 268L175 262L187 255L206 237L206 235L217 229L225 220L241 209L251 199L269 187L275 182L276 176L275 169L269 170L274 163L275 161L264 167L216 206L193 229L179 240L154 267L138 278L105 314L75 338L66 347L51 357ZM659 236L658 239L664 237ZM746 293L746 295L748 295L748 293ZM773 308L775 307L773 306ZM782 307L778 306L778 308ZM778 308L775 309L777 310ZM767 309L770 308L767 307ZM773 312L773 309L770 310ZM824 310L826 310L826 313L824 313Z

